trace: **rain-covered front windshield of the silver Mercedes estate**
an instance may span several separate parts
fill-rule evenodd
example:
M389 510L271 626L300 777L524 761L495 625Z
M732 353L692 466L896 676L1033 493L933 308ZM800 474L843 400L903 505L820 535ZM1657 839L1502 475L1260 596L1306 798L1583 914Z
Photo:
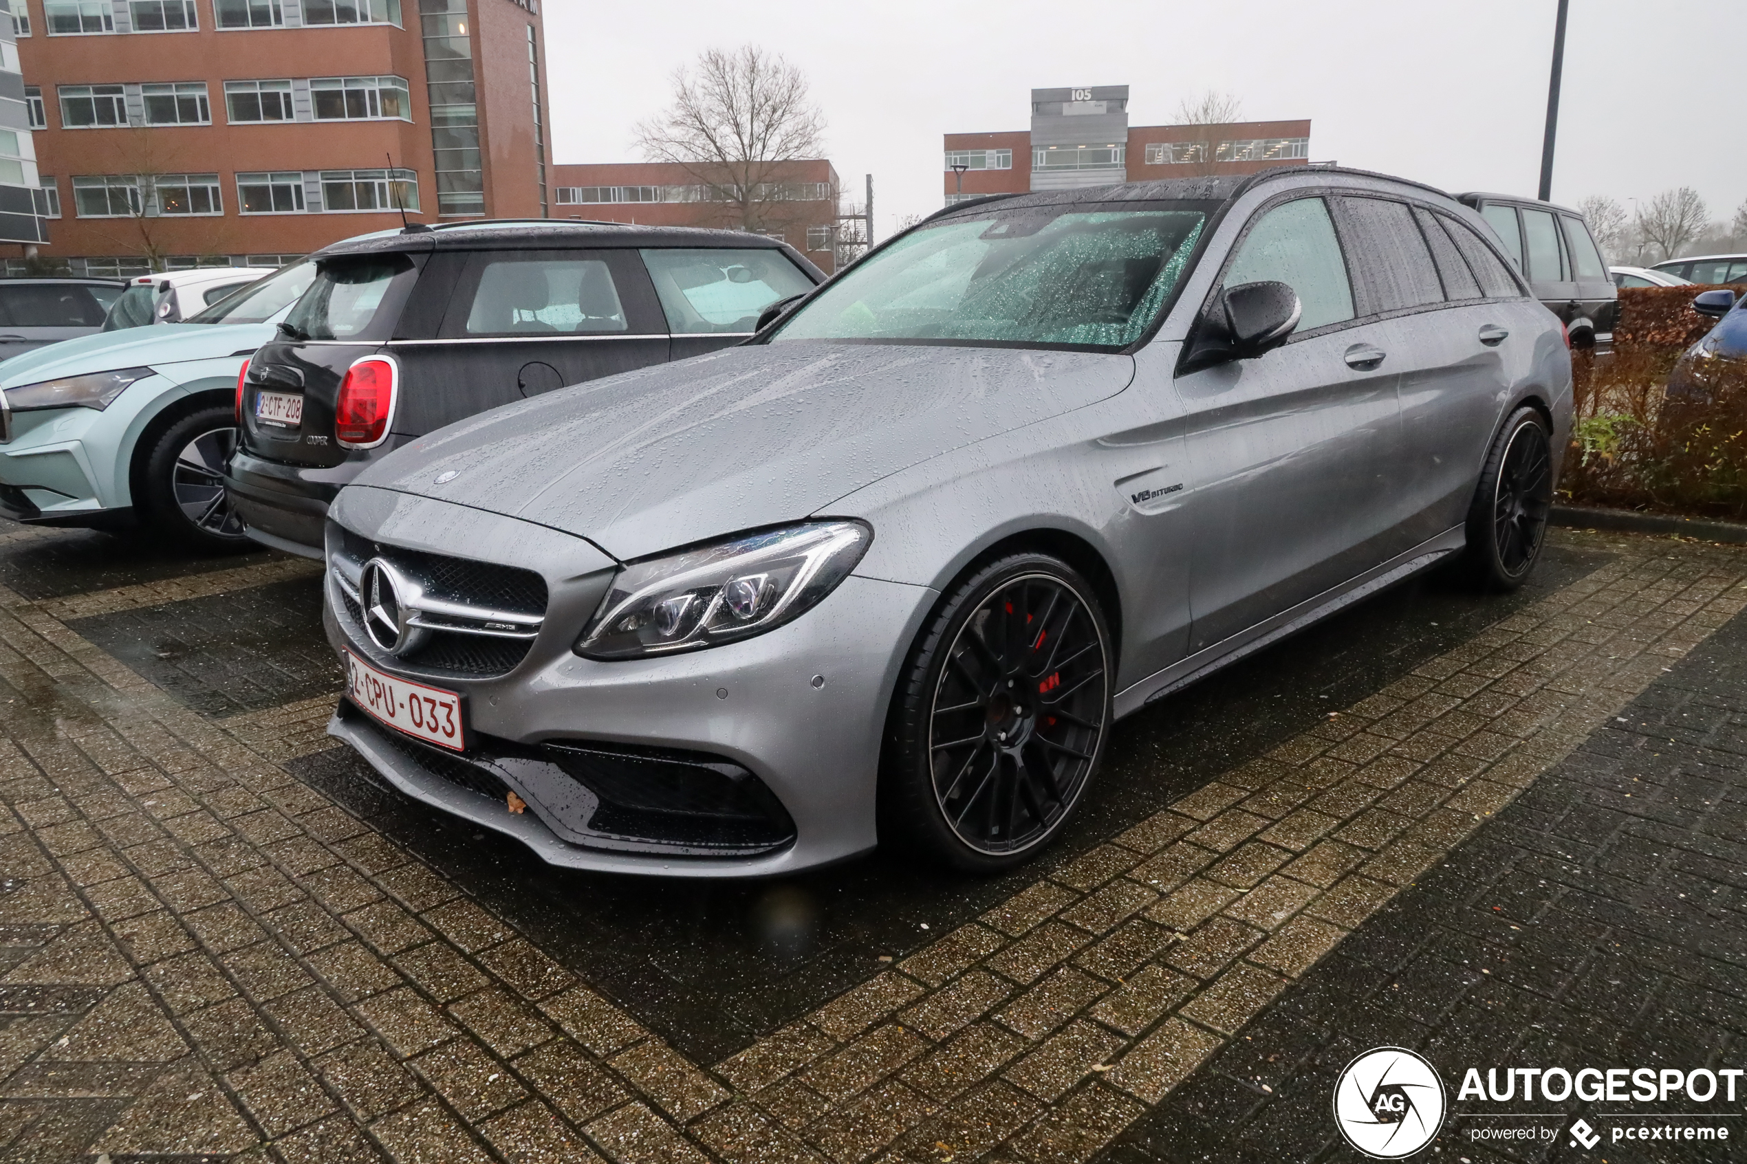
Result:
M1205 222L1200 204L945 218L851 267L772 339L1127 347L1170 298Z

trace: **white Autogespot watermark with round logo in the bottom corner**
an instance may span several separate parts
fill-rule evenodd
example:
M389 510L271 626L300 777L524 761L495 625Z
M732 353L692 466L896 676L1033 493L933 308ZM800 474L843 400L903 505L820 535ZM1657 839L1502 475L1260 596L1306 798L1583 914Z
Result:
M1452 1105L1429 1059L1405 1047L1375 1047L1356 1056L1335 1080L1335 1126L1354 1148L1382 1161L1420 1152L1438 1138L1445 1120L1460 1120L1450 1133L1457 1143L1544 1145L1562 1138L1565 1147L1583 1152L1616 1143L1721 1147L1747 1134L1730 1124L1742 1119L1740 1112L1716 1106L1737 1103L1737 1089L1747 1092L1744 1077L1747 1068L1469 1066ZM1626 1105L1626 1110L1592 1108L1579 1119L1569 1110L1487 1110L1572 1101Z

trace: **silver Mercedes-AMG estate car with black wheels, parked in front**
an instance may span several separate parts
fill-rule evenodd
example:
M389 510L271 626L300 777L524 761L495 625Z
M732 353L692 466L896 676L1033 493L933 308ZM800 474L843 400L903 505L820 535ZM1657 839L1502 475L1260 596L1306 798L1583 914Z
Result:
M998 869L1118 717L1441 558L1522 583L1571 426L1487 225L1357 171L961 202L765 316L346 487L330 731L557 866Z

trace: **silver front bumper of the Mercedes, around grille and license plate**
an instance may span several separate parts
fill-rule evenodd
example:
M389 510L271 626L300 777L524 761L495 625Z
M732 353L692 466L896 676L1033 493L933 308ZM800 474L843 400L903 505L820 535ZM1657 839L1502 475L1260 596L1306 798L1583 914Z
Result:
M470 546L468 557L522 567L543 560L552 592L540 637L508 674L444 679L407 670L411 679L465 696L477 743L463 766L451 756L411 745L356 709L335 716L330 733L351 743L388 784L514 836L550 864L577 869L770 876L874 848L886 709L898 667L936 597L933 590L851 576L816 609L765 635L669 658L603 663L580 658L571 644L599 600L601 567L613 569L604 555L592 572L577 562L557 562L554 551L563 546L510 560L515 546L536 539L587 543L514 518L404 496L388 520L355 522L353 510L363 506L348 508L348 499L358 492L348 490L339 513L355 532L426 551L437 550L433 541L454 537L456 546ZM494 536L491 524L508 532ZM423 537L416 541L407 536L411 531L423 531ZM566 600L571 595L589 599ZM339 613L344 609L339 583L328 572L323 604L328 640L381 667L379 654L348 639L349 614ZM570 789L566 803L566 785L550 764L528 763L540 759L543 745L564 743L660 750L742 770L779 805L772 817L790 822L790 836L776 841L767 836L737 850L634 836L634 829L603 820L587 789L580 803ZM519 757L522 766L505 763L507 757ZM477 778L480 773L487 777L484 782ZM528 810L510 813L500 785L517 792Z

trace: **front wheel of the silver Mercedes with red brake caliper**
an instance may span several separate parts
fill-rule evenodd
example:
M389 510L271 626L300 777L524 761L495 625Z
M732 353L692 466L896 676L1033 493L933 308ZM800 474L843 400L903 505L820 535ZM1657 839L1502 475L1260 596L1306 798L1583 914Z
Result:
M1066 562L1015 553L977 569L929 618L900 677L884 831L970 873L1048 846L1104 763L1111 658L1104 611Z

